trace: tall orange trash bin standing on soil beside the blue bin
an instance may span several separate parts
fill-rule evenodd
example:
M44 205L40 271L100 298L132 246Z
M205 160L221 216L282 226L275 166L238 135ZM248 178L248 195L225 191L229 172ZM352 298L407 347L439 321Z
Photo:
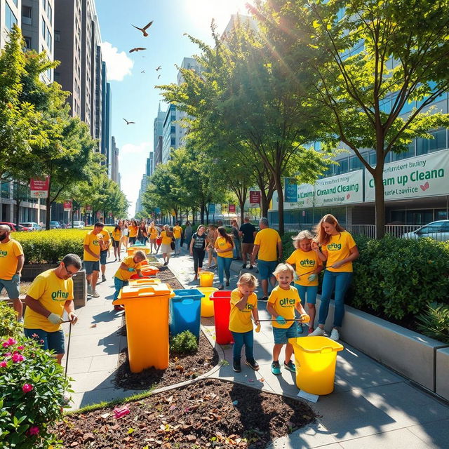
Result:
M132 373L168 368L168 302L175 296L166 283L126 286L112 304L126 312L128 358Z

